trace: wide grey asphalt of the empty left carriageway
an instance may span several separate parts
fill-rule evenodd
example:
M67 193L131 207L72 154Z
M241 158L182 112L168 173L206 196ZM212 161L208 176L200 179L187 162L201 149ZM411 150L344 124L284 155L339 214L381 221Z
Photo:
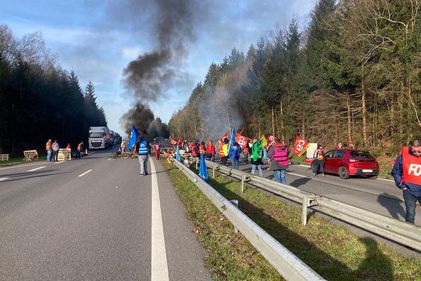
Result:
M0 280L211 280L161 164L109 155L0 169Z

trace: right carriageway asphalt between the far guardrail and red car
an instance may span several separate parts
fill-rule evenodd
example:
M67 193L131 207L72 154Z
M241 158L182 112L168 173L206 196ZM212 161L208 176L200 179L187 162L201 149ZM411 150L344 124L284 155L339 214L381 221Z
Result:
M240 161L239 169L250 172L250 164ZM255 172L258 175L258 171ZM263 165L263 176L273 179L273 171ZM352 177L342 180L338 175L326 174L313 176L309 166L290 165L287 169L286 181L300 190L312 192L323 197L344 202L377 214L391 216L405 221L405 204L402 191L396 188L394 181L377 178ZM418 206L415 224L421 226L421 209Z

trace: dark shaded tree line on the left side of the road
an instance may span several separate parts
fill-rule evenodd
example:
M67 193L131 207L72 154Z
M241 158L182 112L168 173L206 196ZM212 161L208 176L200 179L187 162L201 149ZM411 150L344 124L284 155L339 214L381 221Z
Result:
M89 126L107 126L91 81L81 89L74 70L63 70L40 32L17 39L0 25L0 153L45 150L48 138L72 147Z

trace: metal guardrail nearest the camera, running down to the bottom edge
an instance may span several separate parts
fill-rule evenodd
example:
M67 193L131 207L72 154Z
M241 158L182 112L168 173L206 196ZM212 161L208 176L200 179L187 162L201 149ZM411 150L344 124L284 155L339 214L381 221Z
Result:
M176 159L174 164L286 280L325 280L187 166Z

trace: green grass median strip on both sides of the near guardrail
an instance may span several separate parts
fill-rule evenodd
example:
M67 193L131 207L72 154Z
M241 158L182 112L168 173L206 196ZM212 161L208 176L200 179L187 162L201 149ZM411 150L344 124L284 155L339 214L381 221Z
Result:
M272 266L174 165L165 164L187 216L199 227L208 250L206 265L215 280L280 280ZM211 174L211 171L210 171ZM326 280L421 280L421 262L406 259L375 240L364 239L319 216L301 225L301 209L246 188L227 176L210 185Z

